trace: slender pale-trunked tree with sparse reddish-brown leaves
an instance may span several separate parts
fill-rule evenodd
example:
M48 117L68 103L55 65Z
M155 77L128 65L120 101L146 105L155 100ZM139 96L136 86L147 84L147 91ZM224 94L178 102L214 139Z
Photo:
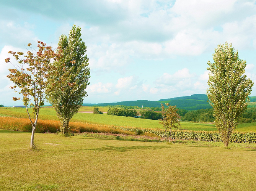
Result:
M28 47L31 43L28 44ZM46 85L48 71L51 70L51 62L60 58L61 51L56 54L51 47L46 47L46 43L38 41L38 51L31 48L25 56L22 52L9 51L18 61L17 64L10 62L10 58L5 59L6 63L11 63L15 69L9 69L11 72L7 77L15 83L11 89L20 93L23 98L23 104L26 106L28 118L32 124L32 135L30 148L34 148L34 133L38 122L39 109L44 105L46 98ZM21 98L13 97L14 101ZM31 117L28 111L28 105L33 107L34 116Z

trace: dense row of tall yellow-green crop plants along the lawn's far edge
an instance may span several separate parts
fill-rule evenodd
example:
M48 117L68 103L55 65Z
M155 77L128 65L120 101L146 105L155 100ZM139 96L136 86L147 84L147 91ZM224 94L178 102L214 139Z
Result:
M168 138L170 136L170 131L165 133L162 129L145 129L136 127L119 127L124 131L132 131L137 134L153 133L157 136ZM196 141L222 141L220 133L217 131L188 131L188 130L172 130L172 139L182 139L182 140L196 140ZM230 137L230 142L233 143L256 143L256 133L255 132L234 132Z

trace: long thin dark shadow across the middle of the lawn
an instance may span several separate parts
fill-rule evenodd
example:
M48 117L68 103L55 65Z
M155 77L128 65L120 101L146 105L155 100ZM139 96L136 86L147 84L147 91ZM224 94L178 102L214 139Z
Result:
M119 152L126 152L126 151L131 151L135 149L163 149L163 148L170 148L168 146L104 146L101 148L96 148L96 149L88 149L91 151L119 151Z

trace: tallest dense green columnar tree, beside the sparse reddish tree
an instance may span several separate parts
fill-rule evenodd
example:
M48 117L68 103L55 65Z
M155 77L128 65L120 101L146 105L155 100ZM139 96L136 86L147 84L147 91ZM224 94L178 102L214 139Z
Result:
M69 121L83 104L87 96L90 68L85 55L86 46L82 41L81 28L73 25L67 38L61 35L59 47L62 59L53 63L54 69L49 75L47 100L54 107L60 119L60 134L69 136Z

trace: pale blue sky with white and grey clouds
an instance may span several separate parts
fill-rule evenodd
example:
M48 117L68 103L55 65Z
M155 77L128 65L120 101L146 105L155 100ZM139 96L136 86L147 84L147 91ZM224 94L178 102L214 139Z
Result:
M38 40L55 49L73 24L91 71L84 103L206 94L207 61L225 42L247 62L256 96L256 0L8 0L0 1L0 104L22 104L12 100L21 95L9 88L8 51Z

